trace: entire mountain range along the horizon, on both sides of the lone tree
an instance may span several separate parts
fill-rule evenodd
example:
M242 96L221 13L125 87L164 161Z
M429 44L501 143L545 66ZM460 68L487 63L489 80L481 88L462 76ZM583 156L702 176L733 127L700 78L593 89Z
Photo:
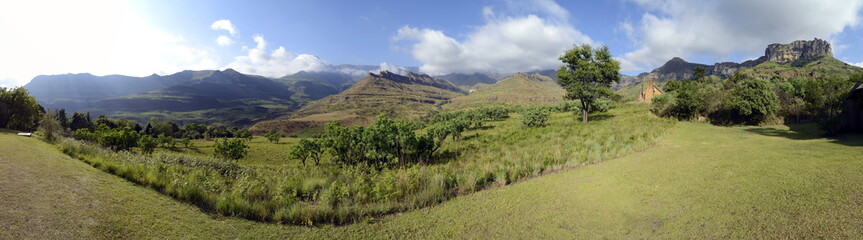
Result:
M613 87L637 92L646 81L662 85L692 78L694 68L726 78L735 73L789 79L860 72L832 56L824 40L771 44L764 56L742 63L713 65L672 58L651 72L622 76ZM394 69L391 72L387 69ZM179 124L250 126L273 119L339 120L362 123L380 113L416 118L443 109L477 104L555 103L562 99L555 70L529 73L452 73L431 77L416 67L334 65L279 78L233 69L182 71L130 77L88 73L41 75L24 86L45 107L91 112L146 122L151 117ZM380 72L379 74L371 72ZM468 94L470 93L470 94ZM625 97L626 99L627 97Z

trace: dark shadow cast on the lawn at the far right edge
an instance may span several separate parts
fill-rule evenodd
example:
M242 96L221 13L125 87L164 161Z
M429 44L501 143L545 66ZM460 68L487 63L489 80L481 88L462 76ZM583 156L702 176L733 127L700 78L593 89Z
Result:
M755 133L771 137L784 137L794 140L809 140L818 138L828 138L831 143L842 144L846 146L863 146L863 134L843 134L839 136L827 136L824 131L818 128L814 123L807 124L787 124L788 129L777 129L773 127L754 127L745 129L750 133Z

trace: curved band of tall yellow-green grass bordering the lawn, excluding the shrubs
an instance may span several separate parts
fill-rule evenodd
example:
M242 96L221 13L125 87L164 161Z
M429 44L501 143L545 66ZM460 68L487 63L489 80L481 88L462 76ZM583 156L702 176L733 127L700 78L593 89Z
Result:
M491 122L449 141L435 164L377 169L366 165L242 165L211 157L112 152L73 139L58 145L102 171L227 216L280 223L344 224L422 208L458 195L512 184L549 171L595 163L655 144L673 121L625 105L578 123L553 114L546 127L519 118Z

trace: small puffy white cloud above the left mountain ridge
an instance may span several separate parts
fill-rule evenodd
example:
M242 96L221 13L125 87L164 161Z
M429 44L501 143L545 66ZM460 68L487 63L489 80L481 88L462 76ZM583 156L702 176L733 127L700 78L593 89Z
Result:
M235 57L234 61L227 67L243 73L267 77L282 77L299 71L323 71L328 67L317 56L295 55L286 51L282 46L267 53L267 41L264 36L257 35L254 37L254 41L257 43L255 48L243 47L247 54Z

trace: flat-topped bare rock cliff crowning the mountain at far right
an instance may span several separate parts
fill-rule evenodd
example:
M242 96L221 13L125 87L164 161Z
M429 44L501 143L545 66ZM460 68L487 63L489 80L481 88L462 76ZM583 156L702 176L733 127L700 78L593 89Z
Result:
M770 44L764 51L767 61L789 63L798 59L814 59L821 56L833 56L830 43L821 39L812 41L794 41L790 44Z

